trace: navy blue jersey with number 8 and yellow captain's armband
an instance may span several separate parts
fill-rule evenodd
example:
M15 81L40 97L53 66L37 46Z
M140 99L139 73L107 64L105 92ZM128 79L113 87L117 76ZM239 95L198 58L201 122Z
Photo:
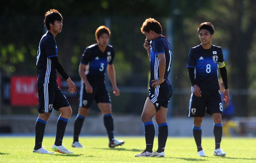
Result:
M224 66L221 47L206 50L200 44L189 51L187 68L195 68L195 84L202 92L219 90L218 67Z

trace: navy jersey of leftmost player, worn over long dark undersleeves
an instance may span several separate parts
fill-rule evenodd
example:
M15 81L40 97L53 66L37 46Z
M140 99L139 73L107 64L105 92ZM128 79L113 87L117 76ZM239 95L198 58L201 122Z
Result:
M57 83L57 71L50 59L57 56L57 53L55 38L47 31L42 36L37 50L37 83Z

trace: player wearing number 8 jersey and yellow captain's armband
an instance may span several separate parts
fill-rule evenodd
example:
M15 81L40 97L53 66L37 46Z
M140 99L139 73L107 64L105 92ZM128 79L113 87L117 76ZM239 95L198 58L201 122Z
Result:
M189 101L189 117L193 117L193 136L197 146L197 155L206 156L201 146L201 125L205 113L212 115L215 137L214 156L225 156L220 149L222 137L222 110L221 95L219 94L218 67L224 84L224 101L229 101L227 88L227 70L223 53L220 47L212 45L214 26L204 22L197 28L200 45L190 49L188 54L188 76L191 81L191 99Z

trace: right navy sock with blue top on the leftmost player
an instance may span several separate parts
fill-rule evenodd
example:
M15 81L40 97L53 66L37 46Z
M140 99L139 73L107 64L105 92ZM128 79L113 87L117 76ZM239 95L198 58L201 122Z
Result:
M68 124L68 119L59 117L57 121L57 130L56 130L56 139L55 145L60 146L62 145L63 136L65 133L66 126Z

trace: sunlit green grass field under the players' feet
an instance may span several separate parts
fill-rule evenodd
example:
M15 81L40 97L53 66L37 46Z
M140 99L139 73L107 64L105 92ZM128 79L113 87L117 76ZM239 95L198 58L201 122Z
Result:
M226 157L213 156L214 138L203 137L202 147L206 157L197 156L193 137L168 137L165 158L139 158L146 146L144 137L116 137L123 139L124 145L108 147L107 137L80 137L84 149L72 148L72 137L64 136L64 146L73 155L56 153L54 155L33 153L34 137L0 137L1 163L73 163L73 162L177 162L177 163L251 163L256 162L256 138L222 138L221 148ZM45 149L50 151L55 137L44 137ZM157 150L157 137L153 150Z

